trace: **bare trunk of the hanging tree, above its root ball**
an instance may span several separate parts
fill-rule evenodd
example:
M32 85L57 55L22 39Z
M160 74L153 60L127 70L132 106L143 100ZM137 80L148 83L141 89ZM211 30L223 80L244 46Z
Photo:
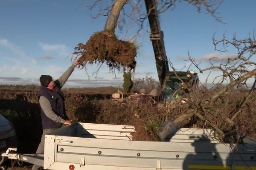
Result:
M105 24L104 31L114 33L119 14L125 3L128 3L128 1L129 0L116 0L111 8L111 13L108 15L108 20Z

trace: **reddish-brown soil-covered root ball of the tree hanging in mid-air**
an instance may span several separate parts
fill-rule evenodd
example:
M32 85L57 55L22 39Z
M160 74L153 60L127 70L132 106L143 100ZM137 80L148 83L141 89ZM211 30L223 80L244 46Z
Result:
M79 43L75 47L76 58L79 65L106 63L111 69L136 66L136 46L132 42L118 40L112 34L98 32L90 37L86 44Z

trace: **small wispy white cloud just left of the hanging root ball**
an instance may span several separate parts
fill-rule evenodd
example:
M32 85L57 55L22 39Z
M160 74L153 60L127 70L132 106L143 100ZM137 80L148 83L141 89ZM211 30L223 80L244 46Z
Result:
M39 45L41 48L43 48L45 51L55 51L59 55L68 56L70 53L67 50L67 46L64 44L53 44L49 45L46 43L39 42Z

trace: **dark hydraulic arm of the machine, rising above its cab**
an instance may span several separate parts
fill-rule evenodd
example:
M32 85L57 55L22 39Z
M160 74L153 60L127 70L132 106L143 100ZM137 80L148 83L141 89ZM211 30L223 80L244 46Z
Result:
M169 72L168 60L166 57L166 50L163 41L163 31L160 29L155 0L145 0L145 6L147 9L149 26L151 29L150 40L154 49L157 74L162 86L166 73Z

